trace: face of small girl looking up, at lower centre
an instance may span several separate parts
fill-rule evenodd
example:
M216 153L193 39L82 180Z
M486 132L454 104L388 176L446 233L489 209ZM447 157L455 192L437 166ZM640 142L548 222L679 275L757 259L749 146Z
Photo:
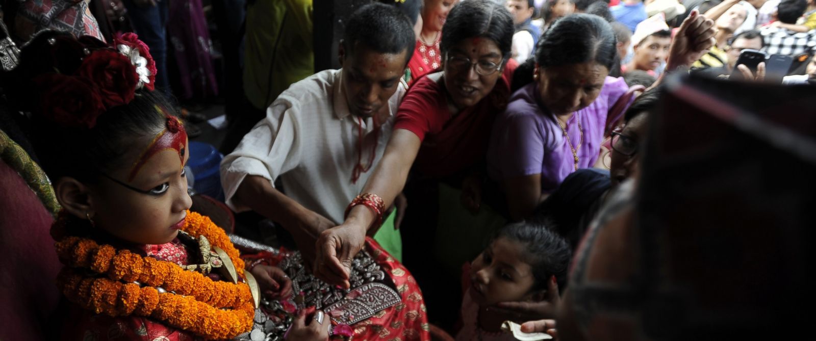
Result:
M530 264L522 260L525 247L499 238L471 265L470 296L482 307L499 302L533 299L534 277Z

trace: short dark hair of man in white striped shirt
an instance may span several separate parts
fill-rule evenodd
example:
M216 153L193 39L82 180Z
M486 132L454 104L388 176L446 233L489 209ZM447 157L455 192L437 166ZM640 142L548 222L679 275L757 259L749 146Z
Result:
M414 25L397 7L379 2L360 7L348 18L343 46L351 54L354 44L360 42L378 53L406 53L406 64L414 54L416 37Z

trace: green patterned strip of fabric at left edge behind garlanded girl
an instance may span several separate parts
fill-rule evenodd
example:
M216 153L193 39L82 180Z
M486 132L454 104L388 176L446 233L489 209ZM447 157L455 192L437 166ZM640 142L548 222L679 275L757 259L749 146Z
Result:
M0 131L0 159L20 174L29 188L37 194L42 205L56 217L60 211L60 203L56 201L51 181L42 168L29 157L29 153L25 153L20 144L12 141L3 131Z

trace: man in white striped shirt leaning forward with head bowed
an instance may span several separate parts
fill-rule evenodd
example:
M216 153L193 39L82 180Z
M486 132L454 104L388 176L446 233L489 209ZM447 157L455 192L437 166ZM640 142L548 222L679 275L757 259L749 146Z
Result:
M280 224L308 262L382 157L406 91L412 26L396 7L361 7L346 24L342 69L290 86L221 162L227 205Z

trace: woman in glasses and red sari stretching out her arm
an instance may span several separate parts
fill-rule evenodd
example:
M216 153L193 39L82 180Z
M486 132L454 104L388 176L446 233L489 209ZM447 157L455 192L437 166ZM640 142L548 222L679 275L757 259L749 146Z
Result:
M490 131L495 117L507 104L517 66L510 59L513 33L512 16L502 5L490 0L460 2L450 11L442 29L441 72L415 81L400 104L391 140L361 197L382 198L382 206L388 207L406 187L410 208L403 231L410 233L402 237L406 245L404 260L409 267L428 266L426 257L432 255L432 247L422 246L432 245L428 236L434 235L437 217L448 214L440 206L441 202L451 201L439 200L439 184L460 188L465 179L484 174ZM412 166L411 184L405 186ZM458 195L450 205L461 207ZM361 236L379 219L378 210L370 206L355 200L344 224L322 234L317 261L326 262L326 272L336 272L338 278L345 276L341 262L357 253ZM470 247L478 253L481 241L475 244ZM473 255L463 256L461 262ZM410 270L424 285L421 269ZM455 275L447 276L452 276L451 283L459 282ZM424 285L424 294L428 290L438 288ZM445 294L459 299L450 292ZM458 305L450 305L451 319L455 319Z

